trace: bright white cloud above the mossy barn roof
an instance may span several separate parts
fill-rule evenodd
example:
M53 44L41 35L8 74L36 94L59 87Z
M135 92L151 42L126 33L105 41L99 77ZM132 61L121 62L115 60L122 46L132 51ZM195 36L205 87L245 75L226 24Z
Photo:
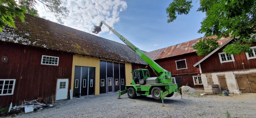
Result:
M64 25L88 33L101 20L113 27L120 21L119 13L127 8L127 3L123 0L63 0L63 5L69 10L69 16L63 20ZM57 22L52 13L45 11L43 4L38 2L36 7L40 16ZM109 30L102 27L102 32Z

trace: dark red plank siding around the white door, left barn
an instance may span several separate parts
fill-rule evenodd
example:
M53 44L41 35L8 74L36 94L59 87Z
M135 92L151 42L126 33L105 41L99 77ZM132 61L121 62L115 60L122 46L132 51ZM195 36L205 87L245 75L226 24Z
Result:
M59 57L59 66L41 65L42 55ZM16 82L13 95L0 96L0 107L38 97L46 103L52 102L57 79L69 79L68 89L71 87L71 53L0 42L2 56L8 57L8 63L0 62L0 79L16 79Z

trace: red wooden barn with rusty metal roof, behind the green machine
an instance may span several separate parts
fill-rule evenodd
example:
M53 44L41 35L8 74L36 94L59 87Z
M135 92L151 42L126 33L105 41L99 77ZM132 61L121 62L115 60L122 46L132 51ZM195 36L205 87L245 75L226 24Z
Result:
M216 38L216 36L208 38ZM229 38L222 38L218 40L218 42L221 45L228 39ZM203 88L200 70L197 67L193 67L195 63L204 57L197 56L196 50L192 48L199 40L200 39L191 40L174 46L146 52L146 54L164 69L172 73L173 82L177 83L178 87L188 85L193 88ZM133 70L143 67L144 65L133 64ZM151 76L152 75L155 76L154 72L151 71Z

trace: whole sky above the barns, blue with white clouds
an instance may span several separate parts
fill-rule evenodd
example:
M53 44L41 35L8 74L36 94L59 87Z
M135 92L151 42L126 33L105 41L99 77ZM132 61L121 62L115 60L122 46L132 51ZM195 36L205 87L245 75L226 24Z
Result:
M203 34L198 34L197 31L205 15L196 12L199 0L193 0L194 7L188 15L180 15L174 22L167 23L165 9L171 2L172 0L63 0L63 5L70 11L63 22L68 27L91 33L93 25L98 25L103 20L144 51L202 37ZM38 3L36 8L40 16L57 22L42 4ZM106 27L102 27L98 36L123 43Z

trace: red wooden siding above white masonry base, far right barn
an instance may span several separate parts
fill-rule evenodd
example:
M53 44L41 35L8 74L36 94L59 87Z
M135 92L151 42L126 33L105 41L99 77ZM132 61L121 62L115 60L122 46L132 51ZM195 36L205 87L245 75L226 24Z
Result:
M256 44L253 44L256 46ZM247 59L246 54L242 53L240 55L234 55L235 62L225 62L221 63L219 60L219 54L223 52L225 48L222 47L220 50L212 54L206 60L200 63L202 73L207 72L222 72L222 71L234 71L234 70L243 70L243 69L252 69L256 68L256 59ZM244 63L244 67L242 65ZM213 65L214 64L214 65Z

